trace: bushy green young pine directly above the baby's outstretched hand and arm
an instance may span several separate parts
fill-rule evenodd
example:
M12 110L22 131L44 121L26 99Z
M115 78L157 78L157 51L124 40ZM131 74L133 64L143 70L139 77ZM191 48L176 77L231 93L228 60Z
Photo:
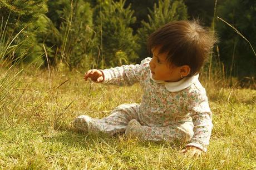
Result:
M136 43L137 37L132 34L130 27L135 23L134 11L128 6L124 8L125 1L111 2L104 1L97 6L96 32L99 46L102 43L103 58L105 63L102 67L116 66L120 59L116 57L116 52L122 51L125 56L129 56L129 62L134 62L137 58L135 50L139 48ZM102 33L102 34L101 34ZM119 56L119 55L117 55Z

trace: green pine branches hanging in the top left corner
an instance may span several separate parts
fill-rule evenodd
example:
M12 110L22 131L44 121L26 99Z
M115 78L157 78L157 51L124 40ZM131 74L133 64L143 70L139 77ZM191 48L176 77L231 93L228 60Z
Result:
M41 14L47 12L46 2L46 0L0 1L0 16L3 16L4 22L7 21L7 17L10 14L6 27L6 37L12 39L25 28L13 41L13 44L21 44L22 42L22 48L18 48L17 51L13 52L13 59L28 56L33 51L36 35L28 27L33 26Z

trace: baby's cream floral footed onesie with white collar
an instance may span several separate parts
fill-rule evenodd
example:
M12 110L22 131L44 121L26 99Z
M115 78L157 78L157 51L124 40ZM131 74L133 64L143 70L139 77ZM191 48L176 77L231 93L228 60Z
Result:
M211 129L211 111L205 89L197 74L178 82L156 81L149 68L151 58L141 64L104 69L104 84L131 86L139 82L143 91L140 104L121 104L110 116L96 119L79 116L73 126L83 131L108 134L137 134L150 141L189 142L206 151Z

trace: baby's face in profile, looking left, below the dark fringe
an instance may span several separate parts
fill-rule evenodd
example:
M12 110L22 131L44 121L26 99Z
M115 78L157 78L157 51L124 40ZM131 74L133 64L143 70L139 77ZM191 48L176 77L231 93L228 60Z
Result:
M153 57L149 63L152 78L155 80L176 82L181 79L181 67L171 66L166 61L168 53L159 53L160 47L152 49Z

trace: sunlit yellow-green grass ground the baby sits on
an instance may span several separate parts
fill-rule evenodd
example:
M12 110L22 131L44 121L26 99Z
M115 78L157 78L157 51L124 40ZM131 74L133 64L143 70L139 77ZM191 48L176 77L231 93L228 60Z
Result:
M186 158L171 143L73 131L70 122L80 114L102 118L119 104L141 100L139 84L103 86L82 77L53 71L49 83L47 70L29 69L16 77L17 88L5 93L0 87L6 95L0 103L0 169L256 168L255 90L207 84L214 114L210 146L203 156Z

